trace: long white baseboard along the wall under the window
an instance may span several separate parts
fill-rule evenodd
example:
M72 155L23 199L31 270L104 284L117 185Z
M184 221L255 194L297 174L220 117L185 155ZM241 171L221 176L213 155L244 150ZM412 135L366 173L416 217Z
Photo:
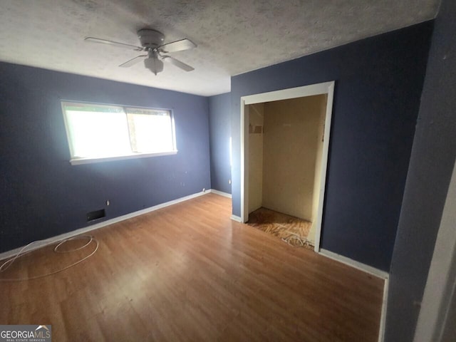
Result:
M125 214L125 215L122 215L122 216L119 216L119 217L114 217L113 219L108 219L107 221L103 221L103 222L100 222L100 223L97 223L97 224L93 224L93 225L88 226L88 227L83 227L83 228L79 228L79 229L73 230L73 231L68 232L68 233L60 234L60 235L57 235L56 237L50 237L48 239L39 240L36 243L34 243L33 245L31 245L30 247L28 247L26 250L27 251L33 251L34 249L38 249L38 248L47 246L48 244L53 244L53 243L61 241L63 239L68 239L70 237L76 237L76 235L84 234L86 232L90 232L92 230L95 230L95 229L98 229L98 228L101 228L101 227L106 227L106 226L108 226L110 224L115 224L117 222L124 221L125 219L131 219L133 217L137 217L137 216L140 216L142 214L147 214L147 212L153 212L153 211L155 211L157 209L170 207L170 205L177 204L177 203L180 203L180 202L185 202L185 201L187 201L189 199L192 199L192 198L195 198L195 197L199 197L199 196L202 196L202 195L207 195L208 193L209 192L197 192L196 194L188 195L188 196L185 196L185 197L180 197L178 199L173 199L170 202L157 204L157 205L154 205L153 207L148 207L148 208L145 208L145 209L138 210L137 212L130 212L130 214ZM16 248L16 249L11 249L10 251L6 251L6 252L3 252L3 253L0 253L0 260L8 259L10 257L14 257L14 255L16 255L23 248L24 247L19 247L19 248Z

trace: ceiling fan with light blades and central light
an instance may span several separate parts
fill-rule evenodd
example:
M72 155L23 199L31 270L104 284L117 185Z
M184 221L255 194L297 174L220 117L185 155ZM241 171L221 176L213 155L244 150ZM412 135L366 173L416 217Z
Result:
M145 51L147 54L140 55L135 58L120 64L122 68L128 68L134 64L144 61L144 66L152 71L152 73L160 73L163 71L163 61L171 63L177 68L181 68L184 71L192 71L195 68L185 64L178 59L163 55L163 53L170 53L176 51L189 50L190 48L196 48L197 44L190 41L190 39L184 38L180 41L172 41L171 43L163 43L165 41L165 35L152 28L142 28L138 31L138 38L140 39L141 46L130 45L126 43L119 43L118 41L109 41L108 39L101 39L95 37L86 37L84 40L92 43L103 43L112 46L118 46L120 48L130 48L134 51Z

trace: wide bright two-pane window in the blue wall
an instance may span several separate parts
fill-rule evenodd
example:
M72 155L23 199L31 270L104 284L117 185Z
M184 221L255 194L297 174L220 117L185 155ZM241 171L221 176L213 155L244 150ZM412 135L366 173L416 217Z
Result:
M177 153L170 110L63 102L71 164Z

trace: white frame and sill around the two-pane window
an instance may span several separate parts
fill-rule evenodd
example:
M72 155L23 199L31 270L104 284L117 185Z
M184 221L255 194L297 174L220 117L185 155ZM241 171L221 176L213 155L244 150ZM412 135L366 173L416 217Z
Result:
M71 130L68 123L68 118L66 115L66 105L95 105L101 107L111 107L111 108L123 108L125 115L127 115L128 108L130 109L146 109L146 110L162 110L170 113L171 118L171 132L172 132L172 146L173 149L169 151L163 152L131 152L128 155L115 155L110 157L73 157L73 142L71 140ZM163 109L163 108L149 108L149 107L141 107L141 106L132 106L132 105L112 105L112 104L105 104L105 103L89 103L89 102L81 102L81 101L71 101L71 100L61 100L61 108L63 113L63 120L65 123L65 130L66 130L66 138L68 140L68 147L70 150L70 163L71 165L81 165L81 164L90 164L93 162L109 162L113 160L127 160L127 159L138 159L138 158L147 158L147 157L159 157L161 155L175 155L177 154L177 144L176 144L176 130L175 130L175 120L172 110L170 109Z

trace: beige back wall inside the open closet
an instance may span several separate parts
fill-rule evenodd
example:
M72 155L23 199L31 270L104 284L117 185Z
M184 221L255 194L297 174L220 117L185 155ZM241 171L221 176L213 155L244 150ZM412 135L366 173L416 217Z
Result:
M264 104L263 207L314 219L322 103L326 105L326 95Z

